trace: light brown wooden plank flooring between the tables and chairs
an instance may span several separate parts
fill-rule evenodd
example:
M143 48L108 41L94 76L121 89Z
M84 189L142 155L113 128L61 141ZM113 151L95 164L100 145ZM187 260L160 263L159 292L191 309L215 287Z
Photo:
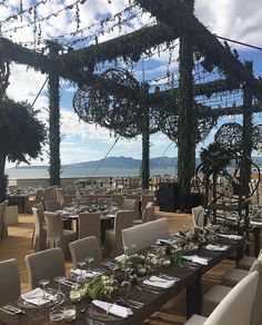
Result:
M183 214L172 214L157 211L157 217L168 217L171 234L179 229L187 230L192 227L192 217ZM24 263L24 256L33 253L31 249L31 236L33 229L32 215L19 215L19 224L9 226L9 236L0 242L0 260L8 258L17 258L21 276L21 290L22 293L29 290L28 273ZM205 276L203 284L203 292L214 283L220 280L221 275L232 267L233 263L225 260L219 266L209 272ZM71 262L66 262L67 275L69 275ZM164 306L160 306L160 312L154 313L144 324L151 325L170 325L183 324L185 321L185 295L182 292L173 299L168 302Z

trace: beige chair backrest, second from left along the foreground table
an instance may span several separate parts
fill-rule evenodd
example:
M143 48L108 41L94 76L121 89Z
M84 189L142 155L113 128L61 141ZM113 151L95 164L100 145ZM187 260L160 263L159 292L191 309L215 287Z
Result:
M66 275L64 257L60 247L27 255L26 264L31 289L38 287L43 278L53 279Z

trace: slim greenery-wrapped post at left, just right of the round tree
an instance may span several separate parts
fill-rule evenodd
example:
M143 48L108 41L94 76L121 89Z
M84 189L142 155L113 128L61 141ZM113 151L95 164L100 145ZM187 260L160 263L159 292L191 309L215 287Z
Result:
M57 43L49 42L49 56L51 59L58 57L60 47ZM56 71L49 73L49 175L50 185L60 186L60 89L59 75Z

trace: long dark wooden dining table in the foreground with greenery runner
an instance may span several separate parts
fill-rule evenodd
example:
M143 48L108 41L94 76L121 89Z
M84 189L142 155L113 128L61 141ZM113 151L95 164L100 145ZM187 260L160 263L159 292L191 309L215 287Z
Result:
M92 319L90 318L90 314L88 309L84 313L81 313L83 307L91 305L90 298L84 298L79 303L75 303L77 307L77 318L73 322L74 324L140 324L143 319L149 317L154 312L159 311L160 307L178 295L181 290L185 289L187 292L187 317L190 317L192 314L201 313L201 287L202 287L202 276L210 270L213 266L220 263L222 259L226 258L229 254L232 252L242 252L243 240L221 240L222 244L228 245L228 249L224 252L210 252L206 249L200 249L195 254L198 256L208 257L208 265L200 265L189 263L187 260L182 260L180 266L171 265L168 268L157 269L157 272L152 274L164 273L168 276L178 277L179 280L175 284L165 289L153 288L155 293L149 293L145 289L138 289L137 286L131 286L129 290L120 289L119 293L113 295L110 299L111 303L114 303L119 299L120 296L130 297L134 301L141 302L144 305L141 308L132 308L133 314L127 318L119 318L118 321L107 322L105 319ZM221 244L220 242L220 244ZM57 288L58 284L50 284ZM66 301L62 306L58 306L58 308L62 308L66 305L72 304L69 299L69 290L68 286L62 285L62 290L66 294ZM18 306L17 302L13 302L14 306ZM26 315L22 316L12 316L4 314L0 311L0 324L52 324L49 319L49 308L23 308L26 311ZM60 321L60 324L67 324L66 321Z

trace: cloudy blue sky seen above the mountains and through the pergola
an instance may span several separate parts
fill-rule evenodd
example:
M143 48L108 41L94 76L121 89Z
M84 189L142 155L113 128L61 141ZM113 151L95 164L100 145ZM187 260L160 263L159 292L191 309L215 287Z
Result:
M14 28L26 24L26 22L32 21L33 13L24 13L19 19L7 20L13 13L18 13L20 10L20 4L22 3L23 10L32 4L40 1L30 0L0 0L0 24L2 36L12 39L16 42L31 42L27 43L28 47L32 47L33 43L33 28L32 23L30 27ZM109 3L111 2L111 3ZM60 0L47 0L46 4L39 4L37 8L37 19L47 17L53 12L57 12L64 6L74 3L72 0L66 0L61 2ZM107 39L118 37L137 30L141 27L153 24L154 19L150 14L141 14L139 9L137 10L137 16L129 23L123 24L120 30L118 27L112 28L112 31L101 35L101 26L98 23L101 18L107 18L109 16L114 16L115 13L122 11L129 6L129 0L87 0L83 4L79 6L79 29L83 29L82 36L89 36L85 42L75 42L73 47L88 46L94 42L93 35L97 35L98 41L102 42ZM77 8L73 7L72 10L61 10L56 17L50 18L47 21L40 23L41 28L41 39L53 39L58 38L59 41L69 42L70 40L77 39L79 35L73 38L59 38L64 33L71 33L77 31L75 23L75 12ZM225 38L234 39L241 42L246 42L256 47L262 47L261 43L261 32L262 32L262 7L261 2L258 0L243 1L243 0L196 0L195 1L195 16L196 18L213 33L222 36ZM111 23L111 24L110 24ZM113 21L109 22L104 27L108 31L109 27L113 27ZM92 27L90 27L92 26ZM90 28L87 28L90 27ZM37 24L37 32L39 32L39 23ZM91 37L92 36L92 37ZM253 60L253 70L255 76L262 75L262 51L250 49L248 47L238 46L230 43L231 49L236 49L240 59ZM173 52L170 53L161 48L161 55L158 51L149 60L140 61L138 65L130 68L133 69L135 77L141 81L142 79L151 80L159 76L164 76L167 70L170 70L174 76L174 83L178 82L177 71L178 71L178 42L174 42ZM171 60L171 63L168 63ZM120 62L119 65L122 65ZM105 69L104 66L99 66L98 69ZM125 65L127 67L127 65ZM129 68L129 67L127 67ZM199 72L199 78L208 80L208 76L201 77ZM11 65L11 76L10 86L8 87L8 95L14 100L28 100L32 102L42 87L47 76L40 72L36 72L33 69L27 68L20 65ZM161 80L152 81L152 87L157 85L162 85L167 82L167 78ZM68 81L61 80L61 162L62 165L97 160L104 157L111 146L114 144L115 138L110 135L110 132L95 125L88 125L79 120L77 114L72 108L72 97L77 88L70 85ZM163 86L164 87L164 86ZM163 88L164 89L164 88ZM230 104L229 104L230 106ZM48 91L44 87L40 97L38 98L34 107L40 109L40 118L44 121L48 119ZM222 125L225 121L240 121L240 117L224 118L219 121ZM261 122L261 116L255 116L255 122ZM198 147L206 146L213 140L215 129L212 129L209 138L201 142ZM177 156L175 144L171 145L171 140L163 134L158 132L151 136L150 139L150 155L151 157L160 157L165 150L167 156ZM43 162L40 159L32 160L32 165L43 165L48 164L48 148L43 150ZM141 158L141 137L127 140L120 139L110 152L110 156L125 156L133 158ZM8 164L7 167L12 167L13 164Z

